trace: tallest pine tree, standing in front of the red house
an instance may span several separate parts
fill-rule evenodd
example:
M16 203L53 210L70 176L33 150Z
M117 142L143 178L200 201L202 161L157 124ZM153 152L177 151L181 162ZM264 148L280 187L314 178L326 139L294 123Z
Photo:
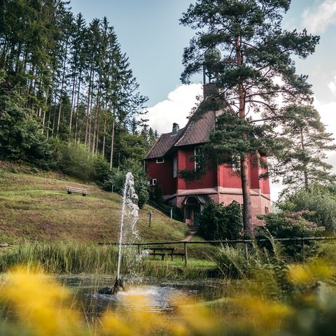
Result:
M235 120L244 120L252 129L256 123L247 118L249 111L260 113L260 120L279 117L275 101L278 95L288 102L311 94L307 77L295 73L291 55L307 57L314 52L319 40L306 30L281 29L283 15L289 7L290 0L197 0L190 5L181 23L197 29L197 34L183 53L183 83L188 83L193 74L206 67L216 74L220 89L216 104L207 104L208 109L225 109L230 105L230 110L239 116ZM214 54L214 48L223 55L221 59L204 57L208 50L208 55ZM237 127L237 141L252 143L255 132L246 132L241 126L244 125ZM225 143L227 153L231 145L235 147ZM239 153L244 229L250 234L253 226L248 158L256 150L258 148L247 146Z

